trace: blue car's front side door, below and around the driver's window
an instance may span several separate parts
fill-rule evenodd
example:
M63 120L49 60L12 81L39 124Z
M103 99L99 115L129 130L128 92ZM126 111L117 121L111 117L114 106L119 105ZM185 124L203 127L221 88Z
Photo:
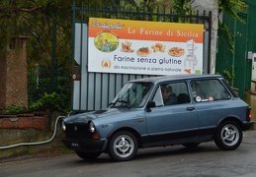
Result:
M166 84L165 84L166 85ZM173 145L193 142L199 131L198 115L189 96L186 82L170 83L178 102L163 105L159 85L152 100L156 107L146 111L148 143L151 146Z

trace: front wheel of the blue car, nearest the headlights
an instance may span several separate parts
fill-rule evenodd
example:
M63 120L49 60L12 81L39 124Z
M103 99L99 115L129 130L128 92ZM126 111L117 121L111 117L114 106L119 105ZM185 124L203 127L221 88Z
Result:
M117 161L128 161L137 152L137 140L128 131L116 133L109 142L108 153Z

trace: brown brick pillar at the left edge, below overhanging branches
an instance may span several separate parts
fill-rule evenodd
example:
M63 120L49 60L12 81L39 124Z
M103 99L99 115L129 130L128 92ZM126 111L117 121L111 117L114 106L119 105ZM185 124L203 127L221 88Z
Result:
M8 106L28 106L27 37L17 37L14 47L0 60L0 110Z

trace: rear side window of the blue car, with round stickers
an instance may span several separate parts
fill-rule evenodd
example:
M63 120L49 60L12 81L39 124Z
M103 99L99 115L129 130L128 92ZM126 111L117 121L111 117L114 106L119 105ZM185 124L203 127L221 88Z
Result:
M192 81L191 88L196 102L230 99L228 90L218 80Z

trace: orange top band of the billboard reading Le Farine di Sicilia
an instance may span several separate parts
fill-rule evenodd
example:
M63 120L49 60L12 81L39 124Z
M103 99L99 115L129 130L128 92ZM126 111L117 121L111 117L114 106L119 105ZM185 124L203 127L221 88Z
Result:
M204 25L90 18L89 37L108 31L118 38L156 41L204 41Z

